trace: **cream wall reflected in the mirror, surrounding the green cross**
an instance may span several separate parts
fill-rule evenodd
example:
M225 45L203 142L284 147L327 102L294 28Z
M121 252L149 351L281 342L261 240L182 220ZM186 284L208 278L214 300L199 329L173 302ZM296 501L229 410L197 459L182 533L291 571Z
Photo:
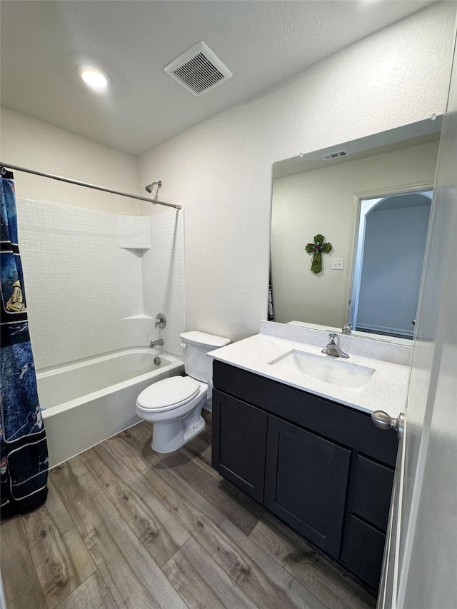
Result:
M307 321L336 328L348 321L358 196L432 186L437 156L438 142L433 141L273 181L275 321ZM321 273L311 271L312 255L305 251L316 234L323 234L332 246L329 253L322 254ZM331 269L333 258L343 258L342 271Z

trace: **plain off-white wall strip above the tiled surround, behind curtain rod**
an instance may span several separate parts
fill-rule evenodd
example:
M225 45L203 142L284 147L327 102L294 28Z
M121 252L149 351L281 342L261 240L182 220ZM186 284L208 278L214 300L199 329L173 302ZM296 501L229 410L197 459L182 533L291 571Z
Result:
M1 161L131 194L139 191L136 158L49 123L1 107ZM106 211L139 213L139 201L14 172L17 196Z

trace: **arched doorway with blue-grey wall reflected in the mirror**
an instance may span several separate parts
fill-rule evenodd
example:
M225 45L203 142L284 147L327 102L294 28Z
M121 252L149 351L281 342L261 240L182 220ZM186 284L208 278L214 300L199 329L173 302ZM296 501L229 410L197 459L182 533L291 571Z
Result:
M413 337L432 190L361 200L350 323Z

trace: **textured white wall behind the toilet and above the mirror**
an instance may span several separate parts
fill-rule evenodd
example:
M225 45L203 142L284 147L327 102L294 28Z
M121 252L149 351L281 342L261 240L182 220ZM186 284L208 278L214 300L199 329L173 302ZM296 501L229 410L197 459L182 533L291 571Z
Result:
M160 176L161 198L186 209L186 329L238 339L266 318L274 161L443 112L455 6L434 4L139 157L140 183Z

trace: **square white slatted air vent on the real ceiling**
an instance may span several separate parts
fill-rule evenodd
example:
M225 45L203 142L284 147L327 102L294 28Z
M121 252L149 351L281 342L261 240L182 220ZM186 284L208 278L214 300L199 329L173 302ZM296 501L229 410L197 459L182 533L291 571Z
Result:
M233 76L204 42L194 44L164 70L194 95L202 95Z

